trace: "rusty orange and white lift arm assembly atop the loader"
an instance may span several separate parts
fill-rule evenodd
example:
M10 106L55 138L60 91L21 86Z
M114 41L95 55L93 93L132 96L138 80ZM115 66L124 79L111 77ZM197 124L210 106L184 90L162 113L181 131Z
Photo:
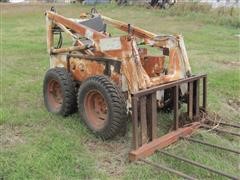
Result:
M186 78L191 74L186 49L183 38L180 35L158 36L139 27L131 26L127 23L120 22L100 14L92 14L93 17L101 16L101 18L116 28L128 32L128 35L121 37L109 37L105 32L96 31L86 25L80 24L80 20L74 20L61 16L53 11L46 12L47 31L48 31L48 51L52 53L84 51L85 54L93 57L108 57L122 62L121 70L127 80L128 91L130 93L137 92L141 89L147 89L152 86L176 81ZM91 18L90 18L91 19ZM53 28L58 26L67 34L71 35L77 44L70 48L54 49L53 47ZM84 44L79 40L85 37L92 41L91 50L84 49ZM136 38L143 39L146 45L161 48L169 56L167 74L159 74L158 76L149 76L146 68L143 67L142 59L136 43ZM78 48L77 48L78 47ZM155 66L155 63L151 66Z

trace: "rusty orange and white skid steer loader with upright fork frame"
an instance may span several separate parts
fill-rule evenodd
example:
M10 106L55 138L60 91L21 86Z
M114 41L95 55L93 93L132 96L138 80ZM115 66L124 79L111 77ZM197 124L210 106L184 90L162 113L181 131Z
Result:
M206 110L207 76L192 75L181 35L156 35L95 9L79 19L51 9L46 22L50 69L43 91L48 111L66 116L78 108L81 120L102 139L121 132L130 115L132 161L200 126L200 112ZM107 24L126 34L113 37L106 31ZM72 39L70 47L62 47L62 33ZM149 55L148 47L159 55ZM180 118L181 103L186 104L185 120ZM161 109L173 110L174 123L170 133L158 137Z

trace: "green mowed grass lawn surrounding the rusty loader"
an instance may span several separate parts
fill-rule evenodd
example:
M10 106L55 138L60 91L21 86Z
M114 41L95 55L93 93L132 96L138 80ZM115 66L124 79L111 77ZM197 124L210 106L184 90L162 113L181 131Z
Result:
M49 114L43 104L42 82L49 67L44 11L51 5L0 6L0 179L179 178L144 164L128 162L131 123L125 137L103 142L86 129L78 113L67 118ZM56 9L65 16L79 17L91 7L58 5ZM208 74L209 111L217 112L225 121L239 123L240 31L231 18L228 23L226 17L206 12L174 14L174 9L132 6L104 5L97 9L104 15L158 34L183 34L193 72ZM164 121L163 124L170 123L167 118ZM194 137L240 148L239 140L230 135L199 130ZM179 141L166 150L239 176L240 158L233 153L186 141ZM224 179L161 154L149 159L199 179Z

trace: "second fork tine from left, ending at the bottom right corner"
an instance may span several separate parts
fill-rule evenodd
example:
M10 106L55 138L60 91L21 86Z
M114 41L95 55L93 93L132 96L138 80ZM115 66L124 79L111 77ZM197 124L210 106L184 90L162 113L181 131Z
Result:
M200 164L200 163L198 163L198 162L195 162L195 161L192 161L192 160L183 158L183 157L176 156L176 155L171 154L171 153L168 153L168 152L166 152L166 151L158 150L158 152L160 152L160 153L162 153L162 154L164 154L164 155L167 155L167 156L170 156L170 157L179 159L179 160L181 160L181 161L187 162L187 163L192 164L192 165L194 165L194 166L197 166L197 167L206 169L206 170L208 170L208 171L211 171L211 172L213 172L213 173L219 174L219 175L221 175L221 176L225 176L225 177L227 177L227 178L234 179L234 180L235 180L235 179L236 179L236 180L238 179L238 177L232 176L232 175L227 174L227 173L224 173L224 172L222 172L222 171L215 170L215 169L213 169L213 168L211 168L211 167L208 167L208 166L206 166L206 165Z

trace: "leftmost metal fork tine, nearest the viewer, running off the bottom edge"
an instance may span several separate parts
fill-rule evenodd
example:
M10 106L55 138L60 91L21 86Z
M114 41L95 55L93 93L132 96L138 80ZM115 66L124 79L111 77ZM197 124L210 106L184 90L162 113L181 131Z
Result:
M153 166L153 167L155 167L155 168L157 168L157 169L162 169L162 170L168 171L168 172L170 172L170 173L174 173L174 174L176 174L176 175L178 175L178 176L180 176L180 177L183 177L184 179L188 179L188 180L195 180L195 179L196 179L196 178L194 178L194 177L192 177L192 176L189 176L189 175L187 175L187 174L184 174L184 173L182 173L182 172L180 172L180 171L177 171L177 170L175 170L175 169L172 169L172 168L163 166L163 165L161 165L161 164L157 164L157 163L148 161L148 160L146 160L146 159L140 159L140 161L142 161L142 162L144 162L144 163L146 163L146 164L149 164L149 165L151 165L151 166Z

